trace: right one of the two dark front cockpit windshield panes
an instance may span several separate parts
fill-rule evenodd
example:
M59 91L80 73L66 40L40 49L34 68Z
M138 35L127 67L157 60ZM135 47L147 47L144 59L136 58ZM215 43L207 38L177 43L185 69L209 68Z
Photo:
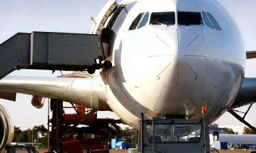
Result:
M203 24L199 12L177 12L177 23L186 26Z

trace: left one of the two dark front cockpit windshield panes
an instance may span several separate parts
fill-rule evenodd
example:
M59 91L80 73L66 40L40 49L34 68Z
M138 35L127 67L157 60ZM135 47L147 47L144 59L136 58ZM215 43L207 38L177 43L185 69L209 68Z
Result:
M174 12L153 12L150 17L150 24L175 24Z

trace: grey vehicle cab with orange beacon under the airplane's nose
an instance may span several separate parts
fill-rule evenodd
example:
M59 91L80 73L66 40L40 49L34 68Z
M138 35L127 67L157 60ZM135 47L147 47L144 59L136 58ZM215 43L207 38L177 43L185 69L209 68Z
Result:
M140 152L210 152L208 123L185 119L141 120Z

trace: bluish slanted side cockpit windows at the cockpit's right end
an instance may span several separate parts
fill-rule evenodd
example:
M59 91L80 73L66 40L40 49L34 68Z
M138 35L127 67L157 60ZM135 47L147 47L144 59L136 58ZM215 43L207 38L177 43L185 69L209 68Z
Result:
M218 24L217 20L209 12L202 12L203 22L211 29L216 29L222 31L221 26Z

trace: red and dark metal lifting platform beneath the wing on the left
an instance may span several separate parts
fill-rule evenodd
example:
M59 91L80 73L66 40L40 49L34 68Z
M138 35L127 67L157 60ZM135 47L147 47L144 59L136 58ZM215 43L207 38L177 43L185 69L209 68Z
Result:
M53 117L50 119L48 116L48 131L51 127L48 152L108 152L110 146L106 139L110 134L117 136L120 131L117 123L121 123L121 120L99 119L95 109L71 105L63 107L63 101L51 99ZM74 109L76 113L65 114L68 108Z

